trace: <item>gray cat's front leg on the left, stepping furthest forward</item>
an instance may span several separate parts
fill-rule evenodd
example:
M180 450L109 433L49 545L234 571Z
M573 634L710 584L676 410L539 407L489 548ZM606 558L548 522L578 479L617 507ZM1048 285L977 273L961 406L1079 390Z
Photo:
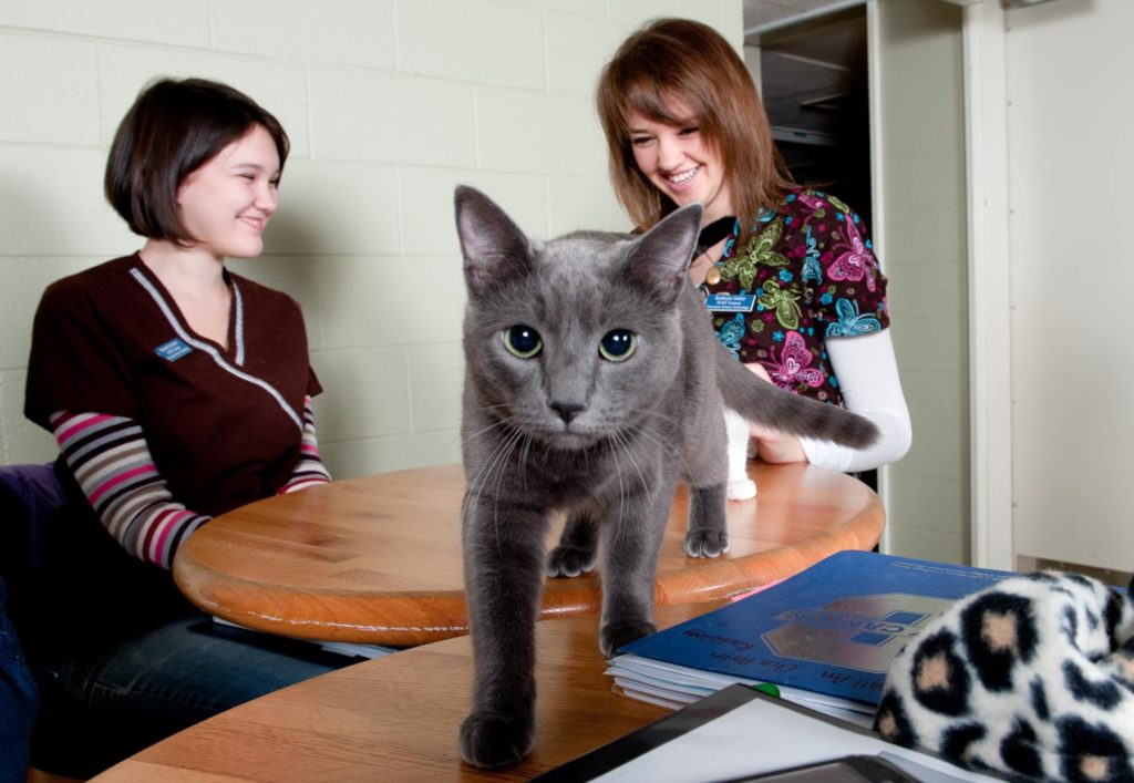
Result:
M500 498L466 496L465 510L473 708L460 726L460 755L499 767L535 744L535 621L548 523L545 514Z

